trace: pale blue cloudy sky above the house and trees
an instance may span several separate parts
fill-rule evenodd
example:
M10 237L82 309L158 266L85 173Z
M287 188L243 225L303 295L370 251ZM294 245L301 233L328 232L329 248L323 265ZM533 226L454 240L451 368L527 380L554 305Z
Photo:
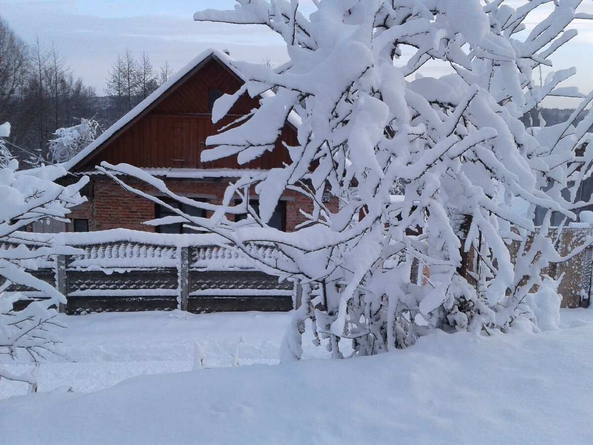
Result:
M304 12L311 9L311 0L301 3ZM209 47L228 49L235 59L250 62L286 61L282 40L266 27L192 19L201 9L231 9L234 4L234 0L0 0L0 15L25 42L33 43L39 36L45 45L55 43L75 75L102 95L111 63L126 48L136 55L146 51L157 68L166 59L179 69ZM584 0L581 10L593 13L593 1ZM579 36L553 57L554 69L576 66L578 74L570 85L588 93L593 90L593 21L578 21L576 28Z

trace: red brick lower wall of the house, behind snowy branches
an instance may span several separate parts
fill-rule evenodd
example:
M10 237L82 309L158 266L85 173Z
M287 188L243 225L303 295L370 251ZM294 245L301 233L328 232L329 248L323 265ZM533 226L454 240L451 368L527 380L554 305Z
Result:
M129 185L136 187L150 195L161 195L157 190L144 182L129 181ZM204 182L197 180L175 179L168 180L169 189L182 196L192 198L206 198L209 202L219 203L228 186L228 182ZM71 219L82 218L89 220L89 230L108 230L111 228L129 228L132 230L155 231L151 225L142 224L154 219L155 205L148 199L127 192L113 180L106 177L93 177L92 192L88 202L77 206L70 215ZM298 193L288 191L282 199L286 201L286 230L294 231L295 227L304 221L299 209L310 213L313 210L311 202ZM331 199L330 208L337 208L337 199ZM72 223L68 225L72 231Z

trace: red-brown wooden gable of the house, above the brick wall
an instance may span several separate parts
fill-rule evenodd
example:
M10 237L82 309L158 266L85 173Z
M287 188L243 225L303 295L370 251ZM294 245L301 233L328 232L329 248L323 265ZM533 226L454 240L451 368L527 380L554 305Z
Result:
M272 169L288 163L288 151L280 143L297 144L297 134L286 125L272 152L248 164L237 163L236 156L203 163L200 153L206 148L208 136L228 125L238 116L259 106L256 99L245 94L221 122L212 123L208 110L208 90L218 88L232 94L243 81L216 56L209 56L189 71L157 100L110 136L71 171L85 171L107 161L127 163L136 167L183 169Z

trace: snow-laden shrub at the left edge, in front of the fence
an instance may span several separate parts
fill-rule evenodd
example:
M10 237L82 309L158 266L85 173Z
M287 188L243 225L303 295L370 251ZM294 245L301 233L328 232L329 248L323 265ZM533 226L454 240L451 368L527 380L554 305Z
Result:
M2 129L3 127L0 127ZM47 166L30 171L17 171L18 162L10 160L0 169L0 380L20 380L36 386L35 369L15 374L5 364L9 361L39 363L47 355L57 353L59 338L53 326L61 326L55 320L53 307L65 303L65 298L52 285L35 278L26 269L36 269L37 260L51 255L71 255L76 249L52 246L43 240L36 246L27 246L19 230L31 222L43 218L63 220L69 208L85 201L78 190L88 178L63 187L54 182L66 172L61 167ZM22 285L41 291L45 297L32 301L23 310L15 310L13 304L26 297L10 290L11 285Z

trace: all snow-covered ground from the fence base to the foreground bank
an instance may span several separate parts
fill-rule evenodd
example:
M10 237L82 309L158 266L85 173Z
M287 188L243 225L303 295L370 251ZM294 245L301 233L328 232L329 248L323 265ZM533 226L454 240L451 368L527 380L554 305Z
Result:
M34 395L0 382L2 444L593 441L589 309L563 310L552 332L435 332L279 366L286 313L63 317L74 363L44 363ZM307 339L304 355L327 352Z

